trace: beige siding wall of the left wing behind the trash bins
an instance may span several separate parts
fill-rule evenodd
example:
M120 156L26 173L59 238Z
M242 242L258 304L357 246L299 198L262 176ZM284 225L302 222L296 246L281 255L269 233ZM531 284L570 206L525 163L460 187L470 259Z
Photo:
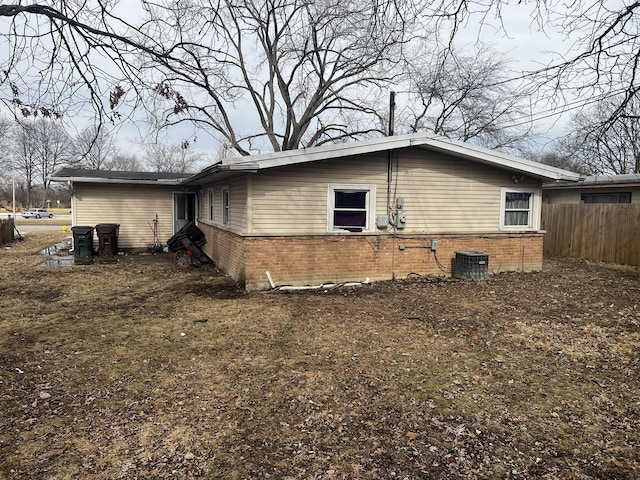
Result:
M120 225L119 248L146 248L153 243L151 226L158 214L161 243L173 235L172 187L75 184L74 225ZM150 226L151 225L151 226ZM94 237L94 245L97 236Z

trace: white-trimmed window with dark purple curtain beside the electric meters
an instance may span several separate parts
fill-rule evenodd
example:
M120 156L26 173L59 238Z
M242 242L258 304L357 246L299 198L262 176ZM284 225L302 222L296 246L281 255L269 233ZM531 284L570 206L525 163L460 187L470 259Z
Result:
M370 232L374 229L375 185L329 185L327 229Z

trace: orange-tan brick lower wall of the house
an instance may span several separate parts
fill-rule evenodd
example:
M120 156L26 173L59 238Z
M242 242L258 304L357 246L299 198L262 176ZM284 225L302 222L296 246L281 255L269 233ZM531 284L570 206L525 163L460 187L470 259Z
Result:
M542 269L542 233L242 237L200 227L205 251L247 290L268 289L267 271L278 286L450 276L456 251L488 253L489 273ZM432 239L436 252L429 248Z

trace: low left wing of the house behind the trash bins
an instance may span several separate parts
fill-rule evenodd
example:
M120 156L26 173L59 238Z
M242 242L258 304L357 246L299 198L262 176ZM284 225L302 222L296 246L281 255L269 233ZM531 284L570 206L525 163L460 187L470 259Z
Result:
M50 179L70 183L73 225L119 224L119 248L139 249L154 243L154 223L166 242L194 219L195 195L181 186L188 176L62 168Z

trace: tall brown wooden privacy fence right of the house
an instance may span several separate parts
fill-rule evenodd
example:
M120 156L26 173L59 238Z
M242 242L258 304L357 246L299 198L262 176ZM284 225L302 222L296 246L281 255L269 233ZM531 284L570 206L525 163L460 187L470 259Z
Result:
M640 204L545 204L544 254L640 266Z

